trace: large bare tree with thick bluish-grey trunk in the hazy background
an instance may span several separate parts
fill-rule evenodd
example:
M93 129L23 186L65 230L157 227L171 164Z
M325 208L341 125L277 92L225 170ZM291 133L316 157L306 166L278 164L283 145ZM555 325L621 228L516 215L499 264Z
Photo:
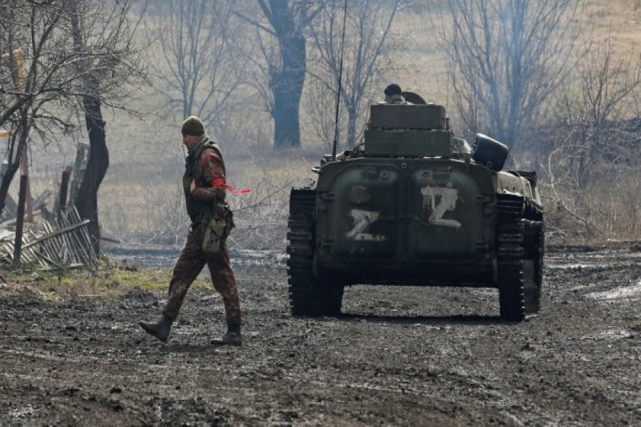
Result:
M257 30L256 45L262 60L254 60L259 70L254 83L273 117L273 147L277 149L301 145L299 109L307 70L306 28L324 3L256 0L262 16L239 14Z

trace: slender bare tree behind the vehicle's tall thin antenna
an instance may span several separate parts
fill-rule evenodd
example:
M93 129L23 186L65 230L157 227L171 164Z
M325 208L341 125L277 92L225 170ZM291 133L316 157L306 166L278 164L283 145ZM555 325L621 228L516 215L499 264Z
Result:
M335 102L338 92L341 48L343 48L343 78L341 100L347 112L347 137L344 147L353 147L363 134L368 107L380 90L385 73L394 70L390 50L397 46L390 28L401 7L400 0L363 0L348 6L343 33L343 1L332 0L311 28L309 74L312 77L308 109L315 117L313 125L319 137L333 140ZM339 144L340 145L340 144Z

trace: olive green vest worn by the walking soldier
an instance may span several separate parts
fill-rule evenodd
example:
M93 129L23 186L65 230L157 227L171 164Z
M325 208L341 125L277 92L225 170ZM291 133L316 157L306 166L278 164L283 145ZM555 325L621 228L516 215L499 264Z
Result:
M220 147L218 147L218 144L216 144L216 142L209 139L209 137L204 137L203 141L197 144L194 152L192 152L191 154L189 154L189 156L187 156L185 171L184 171L184 175L182 176L182 189L184 191L184 201L185 201L185 205L187 206L187 214L189 214L189 218L192 220L192 222L209 221L209 218L212 217L214 210L218 206L224 206L224 203L225 203L224 198L222 200L218 199L214 201L199 201L194 199L194 196L192 196L192 191L190 189L190 186L192 185L192 181L195 181L196 186L199 186L199 187L212 186L211 182L207 182L204 179L204 176L202 174L202 170L200 170L200 164L199 164L199 160L200 160L200 156L202 155L202 152L204 152L204 150L208 148L214 149L214 151L220 158L223 172L226 174L225 162L222 157L222 152L220 151Z

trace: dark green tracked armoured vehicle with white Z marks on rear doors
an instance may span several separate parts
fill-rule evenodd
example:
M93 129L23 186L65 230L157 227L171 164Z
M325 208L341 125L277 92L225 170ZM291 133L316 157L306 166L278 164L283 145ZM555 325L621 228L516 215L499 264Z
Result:
M339 315L355 284L498 288L504 319L537 312L543 209L535 172L501 170L508 154L455 137L441 105L371 105L363 143L291 190L292 314Z

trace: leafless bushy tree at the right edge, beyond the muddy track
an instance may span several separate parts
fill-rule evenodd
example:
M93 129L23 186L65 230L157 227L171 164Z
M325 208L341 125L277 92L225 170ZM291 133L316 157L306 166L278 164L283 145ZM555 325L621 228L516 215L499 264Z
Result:
M570 236L580 231L577 221L588 237L641 231L641 120L631 117L638 115L631 107L641 92L641 56L617 55L614 46L610 37L590 43L573 79L580 86L559 94L545 188L552 212L569 214Z

